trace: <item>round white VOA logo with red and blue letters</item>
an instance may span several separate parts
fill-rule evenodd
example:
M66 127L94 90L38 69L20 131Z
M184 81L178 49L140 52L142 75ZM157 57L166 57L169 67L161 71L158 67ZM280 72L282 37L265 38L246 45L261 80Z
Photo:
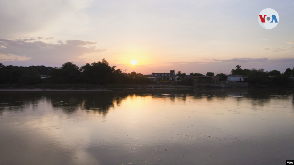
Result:
M258 22L265 29L272 29L279 23L279 14L274 9L263 9L258 16Z

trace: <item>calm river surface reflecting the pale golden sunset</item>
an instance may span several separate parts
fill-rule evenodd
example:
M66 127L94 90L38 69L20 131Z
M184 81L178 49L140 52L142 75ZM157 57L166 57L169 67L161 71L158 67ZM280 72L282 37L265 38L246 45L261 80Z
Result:
M0 164L285 164L292 89L0 92Z

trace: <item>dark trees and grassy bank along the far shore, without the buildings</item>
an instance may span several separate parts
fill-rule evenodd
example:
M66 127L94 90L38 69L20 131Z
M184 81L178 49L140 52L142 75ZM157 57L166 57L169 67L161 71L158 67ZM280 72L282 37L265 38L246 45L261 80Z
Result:
M86 63L82 67L67 62L60 68L46 67L43 65L30 67L4 66L0 63L0 88L191 88L193 83L194 87L207 87L207 85L195 86L195 80L203 81L203 78L216 76L218 78L218 84L228 82L228 75L223 73L218 73L215 76L213 72L208 72L206 75L203 75L201 73L186 74L178 71L172 78L169 76L168 85L161 85L162 83L160 82L165 80L163 79L164 77L158 78L156 75L145 75L136 73L135 71L127 73L127 70L115 68L116 66L109 66L105 59L102 62ZM278 70L242 69L240 65L237 65L231 70L230 76L232 75L242 76L245 79L242 79L242 81L248 83L248 87L294 87L294 68L287 68L284 73L281 73ZM212 87L230 86L220 85Z

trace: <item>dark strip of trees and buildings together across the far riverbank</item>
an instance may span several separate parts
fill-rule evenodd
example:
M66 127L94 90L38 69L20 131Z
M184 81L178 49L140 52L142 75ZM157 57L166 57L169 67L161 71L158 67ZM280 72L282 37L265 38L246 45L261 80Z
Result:
M248 88L248 87L293 87L294 68L287 68L284 73L278 70L242 69L237 65L230 75L208 72L181 73L170 70L169 73L141 74L127 70L115 69L103 59L102 62L87 63L78 67L67 62L60 68L46 66L5 66L0 63L1 87L9 84L28 86L36 84L153 84L153 85L190 85L194 87Z

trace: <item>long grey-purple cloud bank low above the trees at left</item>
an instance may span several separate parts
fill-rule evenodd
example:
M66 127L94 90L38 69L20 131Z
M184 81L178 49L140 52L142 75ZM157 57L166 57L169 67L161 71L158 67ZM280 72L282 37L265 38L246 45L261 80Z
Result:
M91 54L93 57L97 57L98 53L107 50L96 49L97 42L95 41L67 40L58 43L46 43L33 39L0 39L0 58L2 59L0 61L30 61L35 65L39 63L60 65L67 61L83 64L86 62L81 59L90 60L87 62L96 60L85 59L84 56ZM100 59L100 57L97 58Z

